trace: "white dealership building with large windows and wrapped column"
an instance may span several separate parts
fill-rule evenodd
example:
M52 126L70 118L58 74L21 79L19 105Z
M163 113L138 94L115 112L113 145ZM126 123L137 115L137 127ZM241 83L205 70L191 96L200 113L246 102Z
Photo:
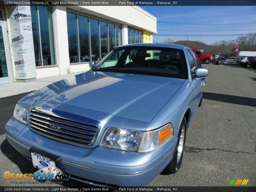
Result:
M0 84L89 70L115 47L153 42L156 22L138 6L0 6Z

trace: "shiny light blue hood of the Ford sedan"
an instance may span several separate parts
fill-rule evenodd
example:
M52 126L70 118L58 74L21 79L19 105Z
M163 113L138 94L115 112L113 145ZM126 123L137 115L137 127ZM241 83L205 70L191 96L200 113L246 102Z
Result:
M150 75L88 71L43 87L25 98L47 101L47 105L65 103L150 122L184 81Z

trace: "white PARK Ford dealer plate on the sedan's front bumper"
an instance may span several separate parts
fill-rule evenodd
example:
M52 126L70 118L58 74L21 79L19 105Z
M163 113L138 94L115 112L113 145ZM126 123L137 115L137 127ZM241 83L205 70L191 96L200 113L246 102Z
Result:
M33 166L38 168L38 169L44 169L46 167L56 167L56 161L49 158L45 157L44 155L41 155L39 153L31 152L31 159Z

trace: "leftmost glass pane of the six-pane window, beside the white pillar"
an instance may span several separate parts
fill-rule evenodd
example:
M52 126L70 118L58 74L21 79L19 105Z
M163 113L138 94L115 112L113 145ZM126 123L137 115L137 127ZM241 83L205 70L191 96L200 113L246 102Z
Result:
M67 36L69 42L69 62L77 63L77 22L76 14L74 13L67 13Z

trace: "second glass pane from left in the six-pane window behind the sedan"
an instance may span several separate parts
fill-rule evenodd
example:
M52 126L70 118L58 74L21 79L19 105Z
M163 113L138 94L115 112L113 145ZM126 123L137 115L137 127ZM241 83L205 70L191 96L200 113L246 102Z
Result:
M79 23L79 43L80 43L80 61L90 61L89 50L89 21L88 17L78 15Z

